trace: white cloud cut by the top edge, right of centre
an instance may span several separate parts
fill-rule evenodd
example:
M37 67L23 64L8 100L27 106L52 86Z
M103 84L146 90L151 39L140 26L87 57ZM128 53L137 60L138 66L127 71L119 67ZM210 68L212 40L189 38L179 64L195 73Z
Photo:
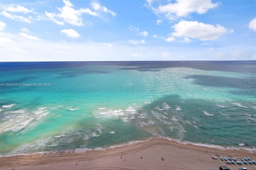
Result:
M218 2L213 4L211 0L176 0L175 3L160 5L157 9L152 9L156 13L164 13L169 20L176 20L179 17L189 16L192 12L204 14L209 9L217 7L218 4Z

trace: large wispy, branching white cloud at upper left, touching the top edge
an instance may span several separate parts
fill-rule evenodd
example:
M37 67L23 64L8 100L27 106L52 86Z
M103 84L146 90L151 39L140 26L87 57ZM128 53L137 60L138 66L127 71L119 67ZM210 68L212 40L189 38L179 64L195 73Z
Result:
M55 18L61 18L66 23L74 25L74 26L84 26L83 19L81 17L82 14L90 14L92 16L99 16L97 12L92 12L89 8L80 8L79 10L75 10L72 8L74 5L69 0L63 0L64 7L57 8L60 11L60 14L46 12L46 16L59 25L64 25L64 22L57 21Z

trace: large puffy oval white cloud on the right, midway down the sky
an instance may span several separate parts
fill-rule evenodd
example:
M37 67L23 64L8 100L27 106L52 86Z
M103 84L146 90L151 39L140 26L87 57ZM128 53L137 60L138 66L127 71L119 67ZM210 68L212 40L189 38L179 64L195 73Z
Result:
M197 21L181 21L172 26L175 32L172 33L174 37L189 37L198 38L202 41L217 40L222 34L227 32L227 29L220 25L204 24Z

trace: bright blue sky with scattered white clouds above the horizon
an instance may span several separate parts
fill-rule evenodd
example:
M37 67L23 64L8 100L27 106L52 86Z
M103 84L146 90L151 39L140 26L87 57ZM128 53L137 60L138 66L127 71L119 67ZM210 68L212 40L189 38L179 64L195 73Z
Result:
M256 60L256 1L0 1L1 62L185 60Z

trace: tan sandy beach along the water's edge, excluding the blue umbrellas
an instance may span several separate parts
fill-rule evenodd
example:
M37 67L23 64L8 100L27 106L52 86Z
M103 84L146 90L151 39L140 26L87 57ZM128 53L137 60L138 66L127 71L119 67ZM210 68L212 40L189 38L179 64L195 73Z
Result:
M217 156L214 160L211 156ZM122 156L122 158L121 158ZM219 150L192 144L179 144L164 138L152 138L104 151L88 151L83 154L46 156L1 157L1 170L209 170L226 165L222 157L256 160L256 152L246 150ZM143 157L143 158L141 158ZM162 160L161 158L164 158ZM227 165L232 170L246 167L254 170L256 165Z

